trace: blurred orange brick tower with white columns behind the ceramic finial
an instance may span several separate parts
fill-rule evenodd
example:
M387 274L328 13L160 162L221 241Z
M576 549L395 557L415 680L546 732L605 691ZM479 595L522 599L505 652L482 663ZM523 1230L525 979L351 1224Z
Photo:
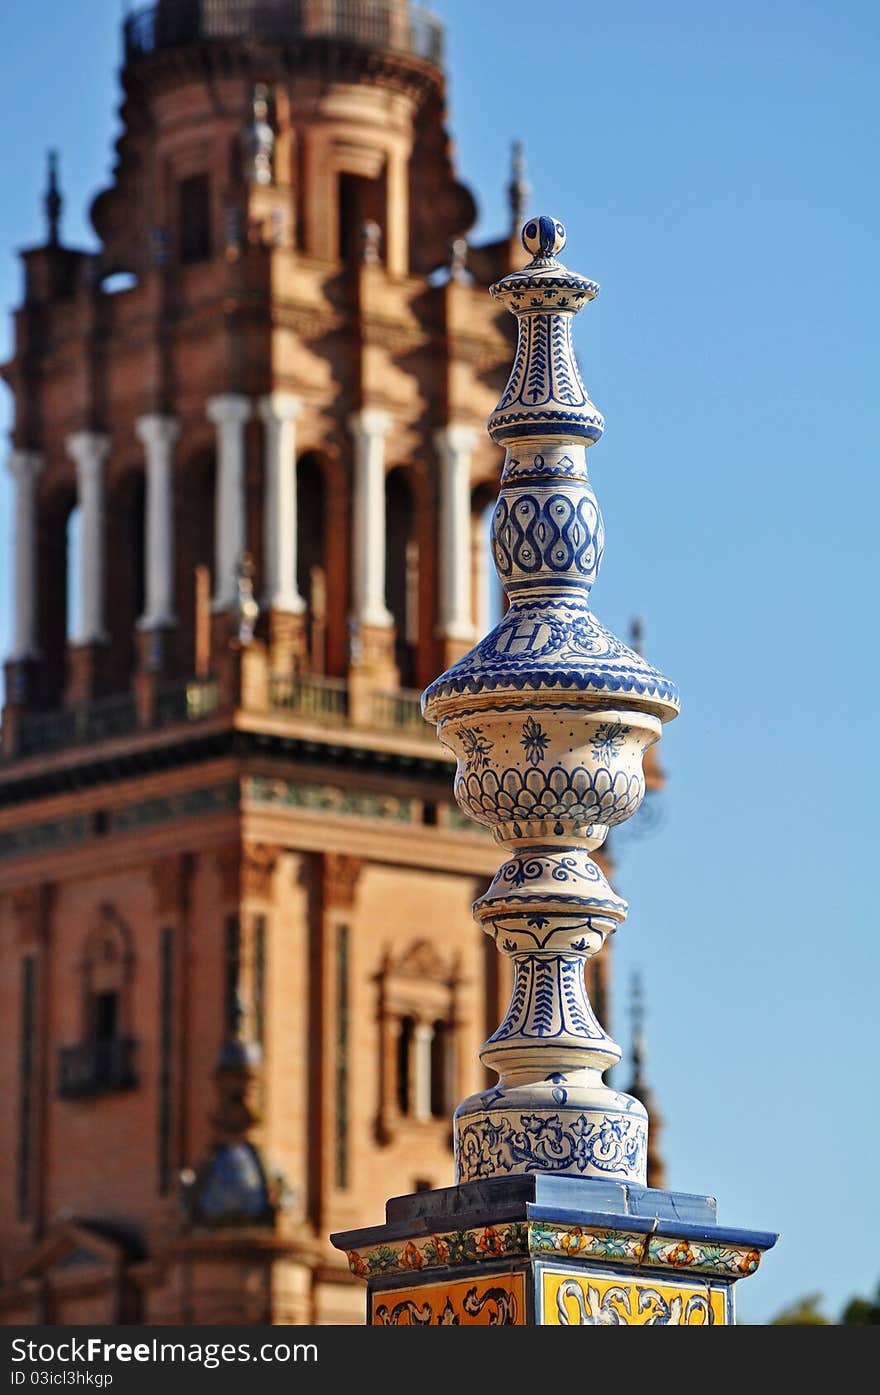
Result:
M509 995L417 689L488 628L522 173L469 247L406 0L160 0L121 81L3 370L0 1320L360 1321L326 1236L449 1179Z

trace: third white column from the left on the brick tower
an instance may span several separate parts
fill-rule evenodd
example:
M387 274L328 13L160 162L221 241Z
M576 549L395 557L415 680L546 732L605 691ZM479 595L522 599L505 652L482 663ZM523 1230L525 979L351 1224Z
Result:
M144 550L144 615L139 629L174 625L174 417L138 417L135 435L146 459L146 547Z

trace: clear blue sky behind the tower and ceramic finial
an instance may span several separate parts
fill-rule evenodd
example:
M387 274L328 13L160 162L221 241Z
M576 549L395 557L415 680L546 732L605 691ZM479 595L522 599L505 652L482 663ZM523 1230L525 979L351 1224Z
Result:
M614 1027L626 1042L637 967L671 1184L782 1233L739 1285L741 1320L812 1292L835 1314L880 1279L880 7L435 8L477 234L506 222L522 137L533 211L566 222L565 259L602 285L576 329L607 418L594 607L618 632L640 612L683 696L660 827L621 847ZM4 311L14 250L40 236L50 145L66 234L91 240L120 10L33 0L0 15ZM0 335L6 357L8 318ZM6 392L0 413L7 427ZM4 544L8 506L4 480Z

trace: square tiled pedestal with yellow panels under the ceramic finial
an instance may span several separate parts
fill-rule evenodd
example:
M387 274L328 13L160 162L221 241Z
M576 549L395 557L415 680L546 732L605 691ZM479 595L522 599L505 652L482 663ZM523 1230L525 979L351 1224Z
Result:
M725 1327L777 1236L717 1225L711 1197L512 1177L417 1191L331 1236L388 1327Z

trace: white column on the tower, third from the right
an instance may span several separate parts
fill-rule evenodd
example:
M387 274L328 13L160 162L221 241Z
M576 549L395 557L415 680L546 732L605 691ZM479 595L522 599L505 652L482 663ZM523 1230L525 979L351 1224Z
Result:
M272 610L298 612L305 601L297 589L297 428L303 400L291 392L262 398L265 423L264 579Z

